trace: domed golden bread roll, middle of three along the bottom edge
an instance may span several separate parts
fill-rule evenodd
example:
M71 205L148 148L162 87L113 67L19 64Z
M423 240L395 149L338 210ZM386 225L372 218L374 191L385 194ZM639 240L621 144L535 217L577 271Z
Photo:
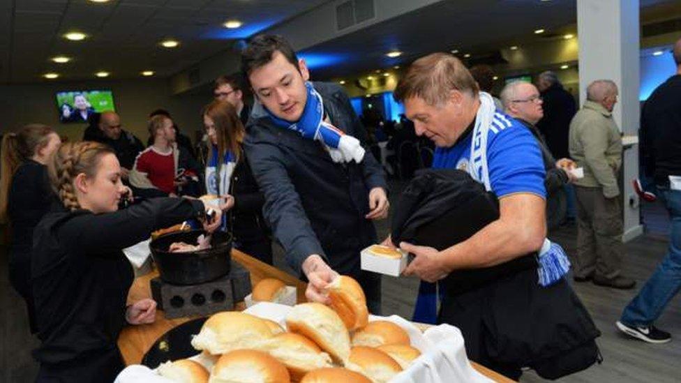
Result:
M289 383L286 367L274 356L257 350L223 354L215 363L210 383Z

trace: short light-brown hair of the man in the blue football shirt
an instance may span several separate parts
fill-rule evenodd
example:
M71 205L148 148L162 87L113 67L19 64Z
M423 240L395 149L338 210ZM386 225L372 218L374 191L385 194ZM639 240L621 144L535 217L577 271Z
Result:
M479 87L459 59L447 53L433 53L414 61L397 84L397 101L422 98L428 105L442 105L451 91L477 97Z

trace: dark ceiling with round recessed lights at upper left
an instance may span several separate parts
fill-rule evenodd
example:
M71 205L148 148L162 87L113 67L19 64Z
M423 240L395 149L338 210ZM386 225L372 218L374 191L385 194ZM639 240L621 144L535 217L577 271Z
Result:
M0 0L0 82L41 81L40 75L52 71L60 73L59 80L92 79L99 70L112 78L136 77L141 70L165 77L229 48L234 38L326 1ZM221 27L232 18L244 27ZM89 38L62 37L73 29ZM181 45L173 50L158 45L169 37ZM57 54L73 61L52 63Z

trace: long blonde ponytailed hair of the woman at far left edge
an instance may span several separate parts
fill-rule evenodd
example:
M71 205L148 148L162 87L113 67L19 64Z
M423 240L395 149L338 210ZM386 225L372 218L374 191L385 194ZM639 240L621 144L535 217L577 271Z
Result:
M38 149L50 142L54 130L50 126L31 123L2 138L0 159L0 223L8 222L7 209L12 178L19 166L31 159Z

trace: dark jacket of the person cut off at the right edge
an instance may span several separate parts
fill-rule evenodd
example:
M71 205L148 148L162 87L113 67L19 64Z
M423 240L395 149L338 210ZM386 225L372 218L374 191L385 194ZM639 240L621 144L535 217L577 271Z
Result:
M641 149L645 174L661 186L681 176L681 75L655 89L641 113Z

